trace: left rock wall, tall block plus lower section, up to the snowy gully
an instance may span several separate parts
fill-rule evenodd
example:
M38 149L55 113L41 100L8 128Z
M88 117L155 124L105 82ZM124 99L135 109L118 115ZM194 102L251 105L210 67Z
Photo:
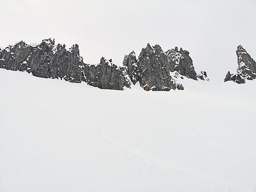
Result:
M123 90L130 88L127 67L117 67L112 61L101 59L99 65L83 63L78 45L66 50L65 45L55 45L54 39L42 40L36 47L20 41L0 53L0 67L27 71L43 78L60 78L70 82L86 81L100 89Z

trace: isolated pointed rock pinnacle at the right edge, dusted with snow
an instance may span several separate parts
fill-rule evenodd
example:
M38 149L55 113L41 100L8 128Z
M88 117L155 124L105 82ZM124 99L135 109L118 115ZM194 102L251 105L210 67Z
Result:
M247 53L247 51L240 45L237 49L238 69L237 74L231 74L229 71L224 79L226 81L234 81L236 83L245 83L245 80L252 80L256 78L256 62Z

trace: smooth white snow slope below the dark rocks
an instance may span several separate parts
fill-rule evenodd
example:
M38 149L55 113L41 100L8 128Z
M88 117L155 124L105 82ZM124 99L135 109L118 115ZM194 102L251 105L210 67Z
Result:
M256 191L255 81L100 90L0 69L0 191Z

